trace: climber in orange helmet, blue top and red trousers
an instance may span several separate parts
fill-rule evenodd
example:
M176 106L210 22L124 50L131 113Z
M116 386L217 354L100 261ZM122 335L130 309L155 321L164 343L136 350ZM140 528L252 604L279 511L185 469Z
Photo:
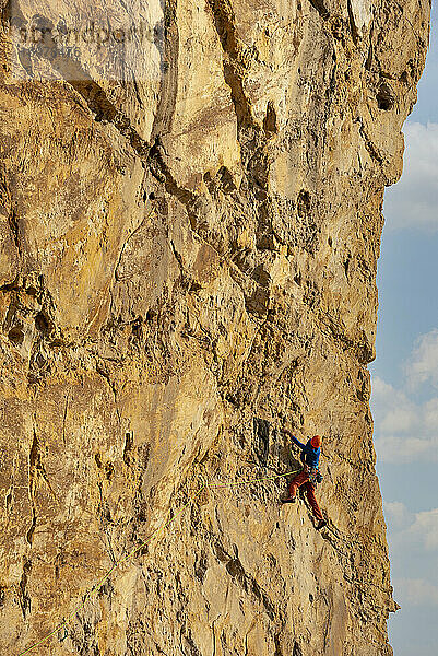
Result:
M289 431L283 429L283 433L288 435L293 442L301 449L301 459L304 461L303 470L292 479L289 483L289 495L286 499L282 499L282 503L293 503L296 501L297 490L300 485L305 485L307 500L313 511L313 515L318 520L316 529L320 530L327 526L327 520L323 518L321 509L318 505L315 496L315 483L320 482L322 477L319 472L319 456L321 455L322 440L319 435L315 435L311 440L308 440L306 444L303 444L293 435Z

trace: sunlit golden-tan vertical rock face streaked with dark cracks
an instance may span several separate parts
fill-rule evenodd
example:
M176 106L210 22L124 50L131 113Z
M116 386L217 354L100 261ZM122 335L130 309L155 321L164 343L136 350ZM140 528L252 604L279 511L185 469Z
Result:
M429 10L3 0L2 653L392 654L367 364ZM297 469L282 426L322 534L201 490Z

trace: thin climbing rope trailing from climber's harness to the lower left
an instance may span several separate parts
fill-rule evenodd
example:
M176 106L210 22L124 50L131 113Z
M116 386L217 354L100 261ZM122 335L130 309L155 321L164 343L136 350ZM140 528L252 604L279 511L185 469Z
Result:
M211 483L211 482L205 482L203 483L196 492L189 499L189 501L173 516L170 517L170 519L168 519L167 522L165 522L162 526L159 526L158 528L156 528L146 540L144 540L143 542L141 542L139 546L134 547L131 551L128 552L127 555L125 555L123 558L121 558L119 561L117 561L113 567L110 567L110 570L108 570L108 572L106 572L105 576L103 576L86 594L85 597L82 601L82 604L80 604L79 606L76 606L72 612L67 617L67 619L63 619L62 622L60 622L59 624L57 624L57 626L50 631L50 633L48 633L45 637L43 637L42 640L39 640L38 642L34 643L33 645L26 647L25 649L23 649L23 652L20 652L20 654L17 654L17 656L23 656L24 654L28 654L28 652L31 652L32 649L35 649L36 647L43 645L44 643L46 643L52 635L55 635L55 633L57 633L58 631L60 631L61 629L64 630L64 636L62 640L66 640L67 634L68 634L68 624L71 621L71 619L73 618L73 616L75 616L82 608L84 608L86 601L88 599L92 599L94 596L96 596L99 591L99 589L102 588L102 586L104 585L104 583L108 579L108 577L110 576L110 574L122 563L127 562L128 560L130 560L131 558L133 558L135 555L135 553L138 551L140 551L141 549L143 549L143 547L145 547L154 536L157 536L159 532L162 532L165 528L167 528L167 526L169 526L169 524L171 524L173 522L175 522L175 519L177 519L182 513L184 511L196 500L197 496L199 496L201 494L201 492L203 490L205 490L205 488L230 488L233 485L250 485L252 483L260 483L262 481L273 481L277 478L283 478L285 476L291 476L292 473L296 473L297 471L299 471L299 469L295 469L294 471L286 471L286 473L279 473L277 476L270 476L270 477L265 477L265 478L259 478L259 479L252 479L249 481L233 481L233 482L226 482L226 483ZM169 511L170 512L170 511Z

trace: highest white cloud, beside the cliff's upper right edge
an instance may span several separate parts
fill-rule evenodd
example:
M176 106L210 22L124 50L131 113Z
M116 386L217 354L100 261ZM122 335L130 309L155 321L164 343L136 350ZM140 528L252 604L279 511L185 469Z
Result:
M403 175L387 190L388 230L438 230L438 124L404 126Z

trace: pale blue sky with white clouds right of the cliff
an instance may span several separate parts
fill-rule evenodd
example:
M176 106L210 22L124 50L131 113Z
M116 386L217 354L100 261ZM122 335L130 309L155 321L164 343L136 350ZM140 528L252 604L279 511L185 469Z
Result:
M384 194L377 358L377 470L394 599L394 656L438 654L438 10L403 175Z

